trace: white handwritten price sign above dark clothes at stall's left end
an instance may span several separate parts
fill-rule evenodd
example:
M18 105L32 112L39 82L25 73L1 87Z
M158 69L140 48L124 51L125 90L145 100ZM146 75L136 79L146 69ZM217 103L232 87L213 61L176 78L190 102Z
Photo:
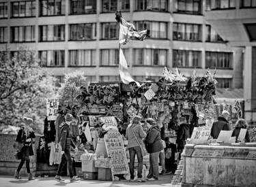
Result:
M46 109L48 120L56 120L59 109L59 99L46 99Z

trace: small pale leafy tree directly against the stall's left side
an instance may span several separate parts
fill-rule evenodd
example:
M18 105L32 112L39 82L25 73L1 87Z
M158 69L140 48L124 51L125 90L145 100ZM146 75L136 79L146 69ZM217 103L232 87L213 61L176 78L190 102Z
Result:
M64 83L61 84L59 103L69 105L70 107L80 105L78 101L76 101L76 96L81 94L81 86L87 87L86 78L82 71L76 70L66 74Z

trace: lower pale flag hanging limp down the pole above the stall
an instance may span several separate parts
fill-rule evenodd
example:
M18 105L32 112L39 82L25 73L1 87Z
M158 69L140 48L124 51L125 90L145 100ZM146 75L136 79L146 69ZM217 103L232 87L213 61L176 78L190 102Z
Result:
M122 82L124 82L124 84L129 84L130 82L136 82L132 78L132 76L130 75L130 73L128 71L126 58L124 58L124 53L121 48L119 51L119 75L120 75ZM136 82L136 84L139 87L141 86L141 84L139 84L139 82Z

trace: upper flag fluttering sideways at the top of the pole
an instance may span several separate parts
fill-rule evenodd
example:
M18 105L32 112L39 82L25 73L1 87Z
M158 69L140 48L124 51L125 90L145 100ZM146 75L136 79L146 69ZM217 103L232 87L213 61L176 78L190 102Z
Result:
M138 31L135 29L134 24L126 22L122 18L121 12L115 13L115 19L119 22L119 44L126 44L130 39L136 39L143 41L147 35L147 30Z

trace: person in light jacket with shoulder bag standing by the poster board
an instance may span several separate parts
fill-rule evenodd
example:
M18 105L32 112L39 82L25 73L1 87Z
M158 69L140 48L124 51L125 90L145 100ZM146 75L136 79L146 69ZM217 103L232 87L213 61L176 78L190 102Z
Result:
M143 131L141 126L141 117L134 116L132 118L132 123L126 129L126 139L128 140L128 151L130 154L130 182L134 182L134 160L135 154L138 159L138 182L143 182L142 180L142 169L143 169L143 156L141 154L140 144L143 143L142 139L145 138L147 134ZM139 142L138 142L139 141Z

